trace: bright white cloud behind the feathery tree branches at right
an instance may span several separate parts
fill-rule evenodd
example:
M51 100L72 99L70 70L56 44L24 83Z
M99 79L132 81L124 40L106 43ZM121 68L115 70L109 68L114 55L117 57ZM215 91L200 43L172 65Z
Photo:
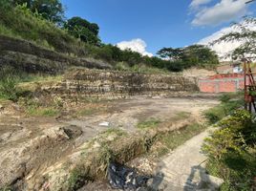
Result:
M244 25L249 30L256 31L255 24L247 25L245 22L242 22L241 25ZM203 38L197 44L202 44L202 45L208 46L213 51L215 51L221 57L222 60L230 60L231 57L227 56L227 55L232 53L239 46L241 46L243 43L242 41L237 41L237 40L228 41L228 42L223 41L223 42L215 43L215 44L211 45L212 42L214 42L215 40L218 40L220 37L224 36L224 34L227 34L230 32L241 32L241 30L234 26L226 27L218 32L214 32L213 34Z

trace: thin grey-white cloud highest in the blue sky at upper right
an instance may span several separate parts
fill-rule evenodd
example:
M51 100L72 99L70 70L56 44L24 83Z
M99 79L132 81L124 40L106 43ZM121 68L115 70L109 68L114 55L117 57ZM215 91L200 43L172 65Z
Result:
M194 3L195 5L205 4L200 0ZM207 26L207 25L219 25L224 22L233 21L236 18L244 16L247 12L247 6L245 4L247 0L221 0L219 3L212 7L202 8L198 10L195 18L192 21L194 26ZM201 4L200 4L201 3ZM193 4L193 1L192 3Z

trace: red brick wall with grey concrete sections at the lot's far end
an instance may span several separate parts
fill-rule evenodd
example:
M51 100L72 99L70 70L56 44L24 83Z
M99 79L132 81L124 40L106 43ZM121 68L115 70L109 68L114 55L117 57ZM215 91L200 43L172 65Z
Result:
M199 79L199 88L203 93L238 92L244 86L244 74L216 74Z

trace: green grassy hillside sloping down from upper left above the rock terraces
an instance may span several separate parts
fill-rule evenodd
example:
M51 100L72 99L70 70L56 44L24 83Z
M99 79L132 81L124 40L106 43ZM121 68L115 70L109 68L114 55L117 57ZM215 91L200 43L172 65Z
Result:
M135 65L142 66L143 68L143 65L145 65L149 68L176 71L172 63L157 57L150 58L139 53L121 51L112 45L96 47L84 43L80 39L76 39L69 32L45 20L38 13L32 13L32 11L24 6L14 8L10 5L0 6L0 18L0 34L2 36L26 40L34 46L42 47L48 51L64 53L66 58L67 56L71 58L78 56L81 58L101 59L104 62L110 63L113 67L117 65L119 70L130 70L129 68Z

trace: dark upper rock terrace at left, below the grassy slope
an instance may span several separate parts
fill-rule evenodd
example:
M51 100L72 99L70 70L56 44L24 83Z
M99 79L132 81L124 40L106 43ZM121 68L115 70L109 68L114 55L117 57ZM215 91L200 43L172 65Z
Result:
M26 40L0 35L0 66L12 66L28 73L59 74L72 66L111 69L100 60L56 53Z

